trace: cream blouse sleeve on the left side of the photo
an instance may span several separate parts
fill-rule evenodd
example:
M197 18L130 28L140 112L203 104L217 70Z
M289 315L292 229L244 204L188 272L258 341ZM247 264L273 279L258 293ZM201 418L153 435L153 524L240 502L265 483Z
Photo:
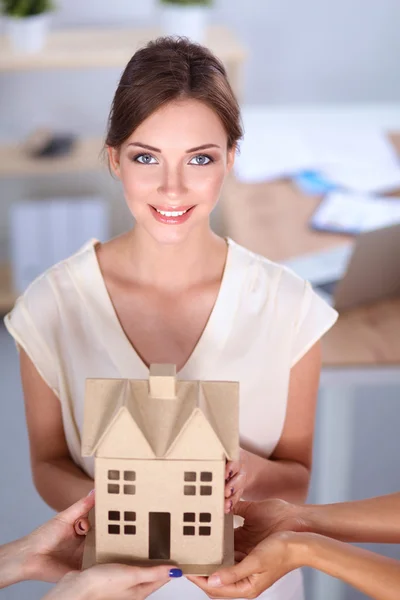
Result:
M23 348L38 373L59 397L56 352L58 309L55 292L46 276L34 281L4 318L17 349Z

